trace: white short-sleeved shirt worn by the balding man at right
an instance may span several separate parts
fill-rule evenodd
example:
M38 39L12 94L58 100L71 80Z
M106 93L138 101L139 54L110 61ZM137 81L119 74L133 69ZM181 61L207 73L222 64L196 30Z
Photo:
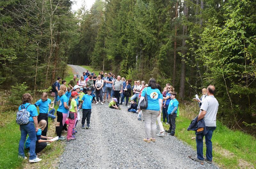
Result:
M202 112L202 110L206 111L206 114L203 118L205 126L216 127L216 115L218 112L218 108L219 103L214 96L208 96L204 99L204 102L200 108L200 113Z

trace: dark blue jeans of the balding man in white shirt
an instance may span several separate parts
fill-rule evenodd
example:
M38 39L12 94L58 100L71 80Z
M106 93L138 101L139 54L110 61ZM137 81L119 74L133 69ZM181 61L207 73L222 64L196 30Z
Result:
M212 133L216 129L216 127L207 127L206 130L208 131L205 135L205 144L206 144L206 159L212 160ZM197 158L200 160L204 160L204 154L203 154L203 138L202 139L196 139L196 152L197 152Z

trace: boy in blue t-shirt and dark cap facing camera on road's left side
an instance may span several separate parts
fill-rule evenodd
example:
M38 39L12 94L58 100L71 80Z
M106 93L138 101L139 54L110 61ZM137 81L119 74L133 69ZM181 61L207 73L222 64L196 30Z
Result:
M91 96L92 88L88 87L86 91L87 91L87 94L85 94L81 99L81 102L78 108L82 107L83 109L82 129L85 129L84 128L85 119L86 119L86 129L91 129L90 118L92 114L92 96Z

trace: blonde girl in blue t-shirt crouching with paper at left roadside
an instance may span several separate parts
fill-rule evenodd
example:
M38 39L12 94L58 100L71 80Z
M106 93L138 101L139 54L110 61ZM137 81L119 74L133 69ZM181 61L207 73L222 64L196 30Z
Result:
M47 146L46 142L52 143L52 140L47 140L47 139L52 139L53 137L46 137L46 136L42 135L42 131L45 129L46 125L47 125L47 121L45 121L45 120L41 120L38 123L38 130L36 132L36 154L37 155L39 152L44 150L44 148ZM44 140L42 138L44 138ZM29 149L30 142L31 142L31 140L28 136L28 138L25 142L26 149Z

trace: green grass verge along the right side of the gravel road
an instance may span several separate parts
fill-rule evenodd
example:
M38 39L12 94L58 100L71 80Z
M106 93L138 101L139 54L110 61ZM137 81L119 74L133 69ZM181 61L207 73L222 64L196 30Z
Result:
M196 140L191 139L195 132L187 131L191 122L185 112L187 108L184 104L180 104L179 107L180 116L176 118L175 136L196 150ZM165 129L169 129L169 125L163 125ZM256 139L253 136L238 130L230 130L217 121L217 128L212 135L212 147L213 161L221 168L256 168ZM204 143L204 155L205 151Z

